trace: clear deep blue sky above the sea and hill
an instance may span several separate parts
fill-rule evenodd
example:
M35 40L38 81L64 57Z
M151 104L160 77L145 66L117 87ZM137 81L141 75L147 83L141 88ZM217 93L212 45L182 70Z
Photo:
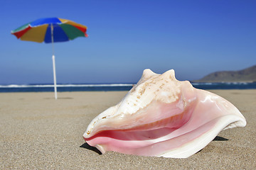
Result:
M87 26L55 43L57 83L134 83L144 69L200 79L256 64L256 1L0 1L0 84L53 83L51 44L11 30L38 18Z

